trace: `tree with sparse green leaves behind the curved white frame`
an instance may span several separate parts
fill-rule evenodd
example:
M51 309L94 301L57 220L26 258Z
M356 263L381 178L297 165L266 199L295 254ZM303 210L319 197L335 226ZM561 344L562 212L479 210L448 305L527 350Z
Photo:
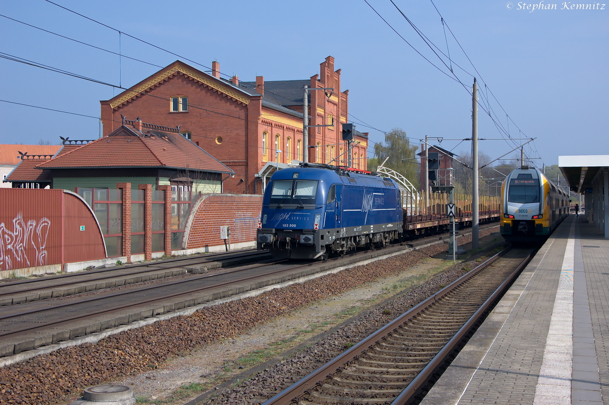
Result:
M368 170L375 171L379 164L402 174L413 186L418 188L417 146L411 145L406 132L400 128L394 128L385 134L385 141L375 144L375 157L368 159ZM407 159L404 160L403 159Z

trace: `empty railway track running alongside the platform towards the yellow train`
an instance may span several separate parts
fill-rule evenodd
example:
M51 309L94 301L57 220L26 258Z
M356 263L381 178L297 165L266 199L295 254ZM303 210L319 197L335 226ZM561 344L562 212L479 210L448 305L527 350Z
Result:
M411 403L532 254L498 253L264 405Z

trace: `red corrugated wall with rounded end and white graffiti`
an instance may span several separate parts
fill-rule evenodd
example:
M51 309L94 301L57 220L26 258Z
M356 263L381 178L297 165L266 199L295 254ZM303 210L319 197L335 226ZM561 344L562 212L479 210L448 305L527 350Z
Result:
M99 225L77 195L62 189L0 189L0 270L105 257Z

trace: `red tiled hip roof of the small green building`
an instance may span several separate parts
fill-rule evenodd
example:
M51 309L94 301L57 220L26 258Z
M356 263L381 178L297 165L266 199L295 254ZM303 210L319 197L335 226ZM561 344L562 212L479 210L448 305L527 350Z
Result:
M233 173L179 133L144 130L121 125L104 138L76 147L38 165L41 169L99 167L166 167L191 171Z

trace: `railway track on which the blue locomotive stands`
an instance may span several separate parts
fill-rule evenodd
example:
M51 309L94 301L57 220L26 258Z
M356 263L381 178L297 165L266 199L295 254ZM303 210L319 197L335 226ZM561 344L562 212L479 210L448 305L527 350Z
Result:
M0 315L0 357L158 317L363 259L403 251L404 247L394 246L376 252L358 252L327 262L292 262L269 258L233 270L191 275L175 281L123 286L57 300L3 306Z

